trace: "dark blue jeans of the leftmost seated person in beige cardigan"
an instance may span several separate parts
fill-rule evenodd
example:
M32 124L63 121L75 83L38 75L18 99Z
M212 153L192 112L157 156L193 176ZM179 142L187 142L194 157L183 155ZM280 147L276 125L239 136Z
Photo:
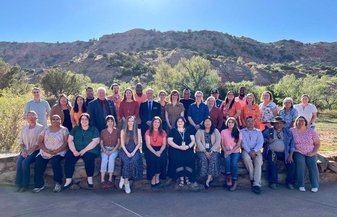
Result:
M36 155L40 150L35 150L26 158L22 157L21 152L17 161L17 176L15 178L16 185L28 185L30 183L30 164L36 160Z

